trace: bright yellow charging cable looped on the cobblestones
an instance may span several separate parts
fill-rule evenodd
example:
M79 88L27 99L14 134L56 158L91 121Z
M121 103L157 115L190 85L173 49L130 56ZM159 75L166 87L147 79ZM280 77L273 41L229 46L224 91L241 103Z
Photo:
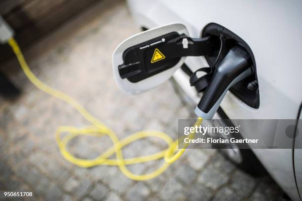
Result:
M100 166L100 165L107 165L107 166L118 166L120 171L127 176L130 179L143 181L152 179L159 174L161 174L167 167L169 167L170 164L174 163L177 159L179 159L182 154L185 152L188 144L184 144L184 148L178 149L178 140L173 141L173 139L163 132L159 131L141 131L134 134L131 134L121 140L118 139L117 135L108 128L105 124L103 124L101 121L99 121L97 118L95 118L92 114L90 114L79 102L77 102L72 97L53 89L43 82L41 82L31 71L31 69L28 67L23 54L15 41L14 38L10 38L8 40L8 44L13 49L14 53L16 54L16 57L20 63L20 66L22 67L25 75L28 77L28 79L36 86L38 89L42 90L43 92L54 96L58 99L61 99L65 102L67 102L69 105L73 106L88 122L90 122L92 125L85 127L85 128L76 128L71 126L62 126L59 127L56 130L55 138L57 141L57 144L59 146L60 152L62 156L69 161L70 163L75 164L79 167L93 167L93 166ZM202 122L201 118L198 118L198 120L195 122L195 125L200 125ZM62 133L66 133L63 137L61 136ZM67 144L68 142L73 139L74 137L78 135L90 135L90 136L103 136L108 135L111 140L113 141L113 147L106 150L104 153L102 153L100 156L94 158L94 159L81 159L77 158L74 155L72 155L67 150ZM189 134L189 138L192 138L194 136L194 133ZM151 154L148 156L141 156L136 158L123 158L123 154L121 149L128 145L131 142L134 142L138 139L146 138L146 137L158 137L162 140L164 140L168 148L165 150L162 150L160 152L157 152L155 154ZM109 159L110 156L112 156L115 153L116 159ZM156 170L154 170L151 173L148 174L133 174L127 169L127 165L132 164L138 164L138 163L145 163L150 162L158 159L164 158L164 163L161 167L158 167Z

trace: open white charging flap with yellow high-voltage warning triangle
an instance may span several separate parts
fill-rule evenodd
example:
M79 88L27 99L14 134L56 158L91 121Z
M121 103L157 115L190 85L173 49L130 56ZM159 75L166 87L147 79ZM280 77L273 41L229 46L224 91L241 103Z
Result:
M118 87L127 94L136 95L168 80L186 58L174 54L171 50L176 46L169 45L168 41L182 35L189 35L186 26L174 23L138 33L121 42L113 53L113 73ZM178 46L183 48L188 43L187 39L181 40Z

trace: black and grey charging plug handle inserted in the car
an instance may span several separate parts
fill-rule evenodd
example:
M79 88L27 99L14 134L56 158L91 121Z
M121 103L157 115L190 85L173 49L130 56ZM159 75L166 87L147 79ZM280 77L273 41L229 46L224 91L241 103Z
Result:
M216 67L195 113L204 119L212 119L227 90L253 73L251 66L252 60L246 49L240 45L232 47Z

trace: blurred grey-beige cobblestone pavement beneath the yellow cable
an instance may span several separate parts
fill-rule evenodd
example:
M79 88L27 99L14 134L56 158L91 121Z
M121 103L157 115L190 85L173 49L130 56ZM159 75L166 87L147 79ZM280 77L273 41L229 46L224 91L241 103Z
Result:
M126 4L102 1L26 51L34 73L50 86L73 96L120 138L142 129L158 129L177 137L178 118L189 111L170 82L140 96L120 92L113 80L111 57L117 44L138 33ZM16 61L5 68L23 89L15 101L0 99L0 190L29 190L33 200L280 200L283 193L269 176L253 178L216 150L187 150L157 178L126 178L117 167L76 167L59 153L58 126L88 123L66 103L36 89ZM172 100L172 101L171 101ZM109 138L80 137L70 143L79 157L93 158L111 146ZM125 157L164 148L155 139L126 147ZM130 166L149 172L162 162Z

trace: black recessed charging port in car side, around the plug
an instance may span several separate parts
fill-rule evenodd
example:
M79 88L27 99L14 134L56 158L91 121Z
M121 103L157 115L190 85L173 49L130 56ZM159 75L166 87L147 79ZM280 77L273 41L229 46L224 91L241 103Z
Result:
M253 62L253 71L254 73L248 76L247 78L239 81L238 83L234 84L229 91L234 94L238 99L242 100L245 104L249 105L253 108L259 108L260 105L260 98L259 98L259 87L258 87L258 79L257 79L257 71L256 71L256 62L254 58L254 54L249 47L249 45L241 39L235 33L232 33L227 28L211 23L207 25L202 32L202 37L206 37L211 35L214 39L214 50L213 54L205 55L205 59L208 62L209 66L212 66L219 54L220 50L220 36L223 40L223 48L221 51L221 55L217 64L221 62L221 60L226 56L227 52L236 44L244 47L247 52L249 53L252 62Z

